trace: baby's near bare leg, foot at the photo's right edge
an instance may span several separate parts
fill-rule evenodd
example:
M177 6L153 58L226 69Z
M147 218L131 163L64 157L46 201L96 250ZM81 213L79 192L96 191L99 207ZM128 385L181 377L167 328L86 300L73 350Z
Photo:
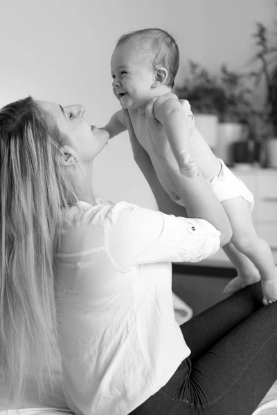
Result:
M222 206L229 217L233 230L231 243L253 262L260 273L265 304L276 301L277 268L269 245L256 234L249 204L238 196L223 201ZM256 282L256 280L253 282Z

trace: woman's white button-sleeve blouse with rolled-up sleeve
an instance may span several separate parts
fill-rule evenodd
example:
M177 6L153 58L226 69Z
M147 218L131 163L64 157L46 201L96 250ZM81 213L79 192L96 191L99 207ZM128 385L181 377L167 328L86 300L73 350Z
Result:
M80 202L64 221L57 269L64 394L76 414L126 415L189 354L172 306L171 262L220 248L220 232L120 202Z

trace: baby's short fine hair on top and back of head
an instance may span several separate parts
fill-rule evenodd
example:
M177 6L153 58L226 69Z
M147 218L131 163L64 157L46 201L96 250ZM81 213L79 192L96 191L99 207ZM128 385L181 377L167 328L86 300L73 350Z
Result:
M175 39L166 30L158 28L141 29L121 36L116 48L132 40L139 43L141 53L152 57L153 68L163 66L168 70L168 79L165 84L173 88L179 68L179 48Z

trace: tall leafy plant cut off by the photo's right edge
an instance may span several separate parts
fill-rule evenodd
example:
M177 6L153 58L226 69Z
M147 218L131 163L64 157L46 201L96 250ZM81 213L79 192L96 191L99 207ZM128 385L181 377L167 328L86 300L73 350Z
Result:
M267 164L269 167L277 167L277 46L270 46L270 35L263 24L256 24L253 38L258 50L252 62L260 62L256 83L263 79L266 87L264 115L267 126Z

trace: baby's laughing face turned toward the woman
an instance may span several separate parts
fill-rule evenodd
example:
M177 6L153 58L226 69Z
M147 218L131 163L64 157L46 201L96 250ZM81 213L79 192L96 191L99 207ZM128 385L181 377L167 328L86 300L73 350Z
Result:
M154 96L154 70L150 59L134 42L118 46L111 55L114 93L125 109L139 109Z

